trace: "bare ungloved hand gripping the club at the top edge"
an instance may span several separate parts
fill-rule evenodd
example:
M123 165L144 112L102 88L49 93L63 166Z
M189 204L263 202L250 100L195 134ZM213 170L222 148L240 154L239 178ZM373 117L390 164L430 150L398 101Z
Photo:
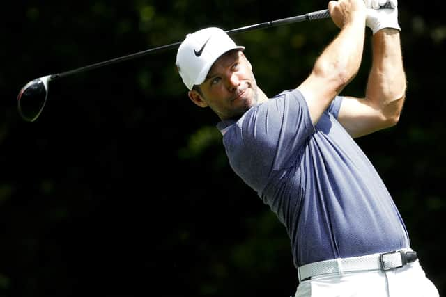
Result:
M353 15L364 15L366 6L364 0L339 0L328 2L328 11L330 16L339 28L342 28L348 22L351 22Z

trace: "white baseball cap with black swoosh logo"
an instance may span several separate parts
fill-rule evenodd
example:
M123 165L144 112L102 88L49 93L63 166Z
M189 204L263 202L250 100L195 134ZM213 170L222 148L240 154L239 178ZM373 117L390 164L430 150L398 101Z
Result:
M176 53L176 67L189 90L206 79L210 67L222 54L243 50L220 28L210 27L187 34Z

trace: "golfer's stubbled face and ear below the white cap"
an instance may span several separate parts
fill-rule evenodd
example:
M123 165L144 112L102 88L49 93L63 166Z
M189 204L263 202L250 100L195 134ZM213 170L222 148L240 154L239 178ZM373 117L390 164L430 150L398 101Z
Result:
M215 61L208 77L189 97L198 106L209 106L221 120L240 118L259 100L251 63L242 51L229 51Z

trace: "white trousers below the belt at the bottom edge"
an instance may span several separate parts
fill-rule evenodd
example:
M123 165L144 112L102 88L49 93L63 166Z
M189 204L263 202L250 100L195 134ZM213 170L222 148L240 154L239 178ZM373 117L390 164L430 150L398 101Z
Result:
M438 297L438 290L415 261L390 271L359 271L313 277L295 297Z

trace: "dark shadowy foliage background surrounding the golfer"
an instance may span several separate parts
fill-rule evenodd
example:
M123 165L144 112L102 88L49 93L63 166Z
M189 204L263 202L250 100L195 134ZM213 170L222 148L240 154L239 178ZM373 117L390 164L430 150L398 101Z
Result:
M440 293L444 1L399 3L408 79L399 124L359 138ZM0 296L290 296L282 225L231 171L217 117L187 99L176 50L49 83L36 122L17 113L32 79L183 40L301 15L325 1L9 1L0 22ZM330 19L235 35L267 95L295 88L338 29ZM361 96L360 73L344 94Z

